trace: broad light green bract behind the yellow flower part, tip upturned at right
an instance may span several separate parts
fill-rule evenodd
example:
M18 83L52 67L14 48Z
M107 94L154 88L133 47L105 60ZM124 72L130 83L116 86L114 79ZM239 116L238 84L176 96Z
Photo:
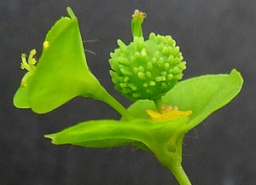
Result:
M241 90L243 79L235 69L227 74L205 75L189 78L178 83L165 96L166 105L179 107L180 110L191 110L189 123L184 130L188 131L200 124L211 113L230 102ZM137 119L148 118L146 109L156 110L153 101L136 101L128 108Z

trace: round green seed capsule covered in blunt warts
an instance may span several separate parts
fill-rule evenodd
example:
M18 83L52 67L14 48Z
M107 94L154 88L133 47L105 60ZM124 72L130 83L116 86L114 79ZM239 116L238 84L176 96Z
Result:
M151 33L146 41L118 44L110 54L110 75L115 89L132 101L158 99L183 78L186 62L171 36Z

